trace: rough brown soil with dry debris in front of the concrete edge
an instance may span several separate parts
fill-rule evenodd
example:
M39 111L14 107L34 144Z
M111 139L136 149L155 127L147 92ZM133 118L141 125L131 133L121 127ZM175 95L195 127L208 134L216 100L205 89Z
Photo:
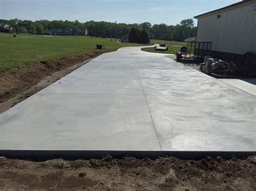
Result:
M0 158L0 189L256 190L256 157L123 157L30 161Z

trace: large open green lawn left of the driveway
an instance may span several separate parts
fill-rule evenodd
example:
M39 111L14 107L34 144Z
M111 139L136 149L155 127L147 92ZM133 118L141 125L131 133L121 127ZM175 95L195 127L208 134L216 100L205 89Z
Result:
M116 43L114 39L86 36L56 36L0 33L0 72L37 61L49 61L66 56L96 51L95 44L105 43L107 51L116 51L124 46L143 46L133 43ZM97 50L99 51L99 50Z

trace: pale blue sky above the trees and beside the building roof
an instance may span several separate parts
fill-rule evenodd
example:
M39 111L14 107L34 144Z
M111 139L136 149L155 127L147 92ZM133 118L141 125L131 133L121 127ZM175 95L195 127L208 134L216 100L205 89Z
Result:
M0 19L176 25L240 0L0 0ZM195 24L197 20L194 19Z

